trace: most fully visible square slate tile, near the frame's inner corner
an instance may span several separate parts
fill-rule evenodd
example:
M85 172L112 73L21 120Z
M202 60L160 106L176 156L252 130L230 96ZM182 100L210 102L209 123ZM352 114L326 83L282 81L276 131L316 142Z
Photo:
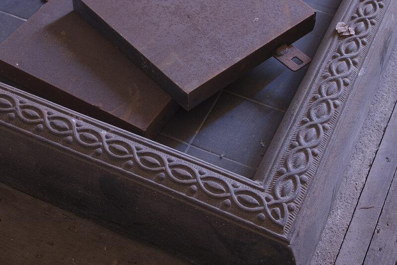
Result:
M192 144L256 168L283 115L223 92Z

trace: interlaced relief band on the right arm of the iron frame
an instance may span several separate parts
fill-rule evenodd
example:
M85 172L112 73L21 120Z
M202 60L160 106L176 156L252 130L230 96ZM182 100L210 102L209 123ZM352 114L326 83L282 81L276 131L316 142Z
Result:
M355 35L340 37L336 33L337 44L333 56L322 69L313 84L298 120L291 131L290 145L284 150L278 162L278 172L266 187L266 192L274 199L267 203L269 211L274 211L270 219L283 226L283 234L288 234L295 215L316 172L320 157L331 137L336 121L350 92L349 85L360 69L368 50L369 41L374 38L382 8L386 0L357 1L347 24L355 29ZM294 203L296 206L292 206Z

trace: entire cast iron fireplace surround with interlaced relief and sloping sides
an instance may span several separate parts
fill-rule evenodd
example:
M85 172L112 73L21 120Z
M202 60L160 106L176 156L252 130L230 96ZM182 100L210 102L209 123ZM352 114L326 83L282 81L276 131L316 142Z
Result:
M253 180L2 84L0 180L199 264L308 264L396 44L344 0ZM351 36L334 30L344 21Z

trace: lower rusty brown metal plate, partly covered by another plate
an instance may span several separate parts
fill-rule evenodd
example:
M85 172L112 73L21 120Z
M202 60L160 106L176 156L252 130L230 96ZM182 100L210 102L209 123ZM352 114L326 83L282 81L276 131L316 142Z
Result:
M52 0L0 45L0 74L83 114L147 137L179 107L73 11Z

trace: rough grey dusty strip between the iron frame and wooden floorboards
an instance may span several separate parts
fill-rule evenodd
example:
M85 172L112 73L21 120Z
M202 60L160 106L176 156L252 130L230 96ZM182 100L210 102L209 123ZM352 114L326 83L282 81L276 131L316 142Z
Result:
M385 69L377 94L353 149L311 265L335 262L396 100L397 47Z

